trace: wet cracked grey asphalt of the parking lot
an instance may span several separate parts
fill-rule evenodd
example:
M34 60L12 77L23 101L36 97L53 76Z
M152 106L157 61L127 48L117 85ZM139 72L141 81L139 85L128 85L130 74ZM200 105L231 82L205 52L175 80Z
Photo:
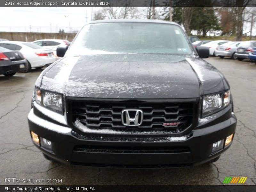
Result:
M27 121L34 84L43 69L0 75L0 185L222 185L228 176L248 177L245 185L255 185L256 65L219 57L205 60L228 79L238 122L233 144L219 161L191 168L106 169L52 163L32 144ZM62 182L5 182L13 177Z

